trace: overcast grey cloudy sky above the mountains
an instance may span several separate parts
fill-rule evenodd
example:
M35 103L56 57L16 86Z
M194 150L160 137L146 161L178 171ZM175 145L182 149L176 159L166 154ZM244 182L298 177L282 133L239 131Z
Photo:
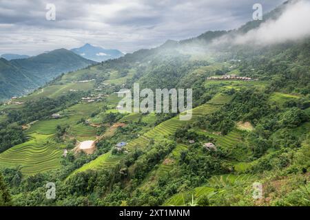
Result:
M122 52L161 45L207 30L230 30L285 0L0 0L0 54L35 55L85 43ZM46 5L56 20L45 18Z

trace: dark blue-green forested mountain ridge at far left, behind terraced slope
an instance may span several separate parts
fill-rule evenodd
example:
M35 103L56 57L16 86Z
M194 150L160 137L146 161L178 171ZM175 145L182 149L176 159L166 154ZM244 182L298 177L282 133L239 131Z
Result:
M0 100L30 93L60 74L94 64L65 49L30 58L0 58Z

